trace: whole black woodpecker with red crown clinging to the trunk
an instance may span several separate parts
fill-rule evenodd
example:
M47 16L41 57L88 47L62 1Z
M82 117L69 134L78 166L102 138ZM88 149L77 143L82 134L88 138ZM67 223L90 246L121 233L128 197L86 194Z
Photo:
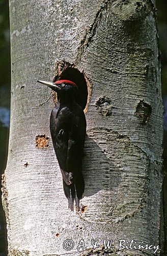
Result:
M83 109L76 103L78 87L69 80L38 82L50 87L58 95L58 103L50 115L50 134L63 177L68 207L73 211L75 200L76 211L79 211L79 200L85 188L81 158L87 123Z

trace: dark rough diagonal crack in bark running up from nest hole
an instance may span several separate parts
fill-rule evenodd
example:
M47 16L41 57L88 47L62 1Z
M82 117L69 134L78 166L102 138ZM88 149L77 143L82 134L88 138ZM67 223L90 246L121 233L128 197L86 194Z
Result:
M93 23L90 25L89 29L86 31L86 34L84 38L80 41L80 45L77 50L76 54L76 60L75 60L75 65L78 65L78 62L80 61L82 55L84 54L85 50L87 49L89 42L91 42L92 38L94 37L96 33L96 29L98 27L98 24L100 22L101 16L102 16L102 11L107 9L108 3L110 0L104 1L101 6L99 7L95 19Z

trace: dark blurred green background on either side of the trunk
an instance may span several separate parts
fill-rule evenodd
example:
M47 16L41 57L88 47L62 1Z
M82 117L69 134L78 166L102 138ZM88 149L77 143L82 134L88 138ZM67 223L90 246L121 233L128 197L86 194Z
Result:
M162 95L167 96L167 1L158 0L156 3L158 15L159 42L162 63ZM9 4L0 0L0 108L10 109L10 32ZM0 118L0 175L4 173L8 152L9 127ZM164 168L167 166L167 132L164 131ZM166 179L167 180L167 179ZM167 205L167 182L164 184L164 205ZM166 202L166 204L165 204ZM156 206L155 206L156 207ZM167 210L166 210L167 212ZM167 223L167 222L166 222ZM7 255L5 216L0 200L0 256Z

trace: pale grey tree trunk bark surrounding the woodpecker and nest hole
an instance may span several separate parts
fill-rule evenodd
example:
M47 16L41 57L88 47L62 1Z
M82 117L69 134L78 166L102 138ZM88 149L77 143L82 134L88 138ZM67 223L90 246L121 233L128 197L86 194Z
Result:
M3 175L9 255L155 255L153 249L119 250L119 239L160 245L163 253L154 4L10 1L11 127ZM89 88L80 214L67 207L52 147L52 94L37 84L60 77L67 67L84 72ZM67 239L74 242L69 251L63 248ZM81 239L85 251L77 251ZM100 245L96 250L92 239ZM104 239L113 240L107 252Z

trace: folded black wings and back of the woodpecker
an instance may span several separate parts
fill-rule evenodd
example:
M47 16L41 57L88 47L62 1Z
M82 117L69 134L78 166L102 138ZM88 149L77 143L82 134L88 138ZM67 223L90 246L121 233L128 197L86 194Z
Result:
M73 176L81 172L86 120L80 108L76 108L74 113L64 108L58 116L57 112L55 110L51 112L50 133L63 179L67 185L70 185Z

